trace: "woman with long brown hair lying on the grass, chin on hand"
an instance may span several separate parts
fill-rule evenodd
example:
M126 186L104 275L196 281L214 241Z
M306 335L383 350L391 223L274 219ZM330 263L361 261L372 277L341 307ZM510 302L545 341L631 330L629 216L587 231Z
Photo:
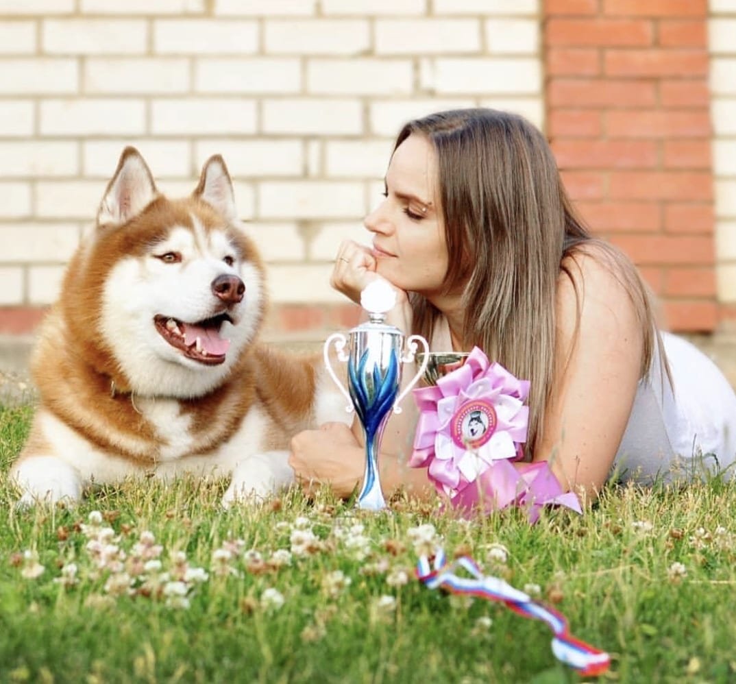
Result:
M392 325L433 350L477 345L531 381L526 460L550 462L563 490L595 496L612 472L651 482L732 464L732 388L692 345L657 332L637 270L576 218L531 124L487 109L410 121L384 196L365 219L372 247L344 242L332 286L358 302L385 278ZM411 411L389 421L386 493L431 490L424 470L406 467L415 421ZM290 463L305 487L329 482L347 496L363 475L360 426L298 434Z

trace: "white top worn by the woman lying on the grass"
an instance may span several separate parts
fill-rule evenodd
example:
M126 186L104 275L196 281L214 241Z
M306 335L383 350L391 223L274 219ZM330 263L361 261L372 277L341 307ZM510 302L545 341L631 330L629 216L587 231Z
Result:
M639 381L611 470L612 479L653 484L717 473L736 460L736 394L718 367L696 346L662 333L673 387L662 373L659 350ZM441 317L433 351L452 349ZM729 468L731 476L734 468Z

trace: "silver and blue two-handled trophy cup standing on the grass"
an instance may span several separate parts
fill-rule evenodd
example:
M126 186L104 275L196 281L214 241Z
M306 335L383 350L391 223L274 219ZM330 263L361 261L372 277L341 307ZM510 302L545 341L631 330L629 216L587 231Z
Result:
M334 333L325 340L324 357L330 377L350 402L347 411L358 415L366 440L366 468L363 487L358 495L358 508L382 510L386 501L378 476L378 449L386 422L392 413L400 413L399 403L425 373L429 346L420 335L406 339L399 328L387 325L386 312L396 303L396 294L386 281L377 280L361 293L361 306L368 312L368 321L353 328L346 339L342 333ZM337 358L347 362L347 385L337 378L330 364L330 345L334 345ZM345 347L347 345L347 351ZM403 363L414 362L417 345L424 349L424 361L417 375L399 394ZM398 396L397 396L398 395Z

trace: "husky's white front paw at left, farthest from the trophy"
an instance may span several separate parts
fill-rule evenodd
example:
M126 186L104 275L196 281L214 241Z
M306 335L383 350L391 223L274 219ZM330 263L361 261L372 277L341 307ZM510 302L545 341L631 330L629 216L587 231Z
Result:
M31 456L13 468L13 480L22 491L18 507L35 504L75 504L82 496L82 480L71 465L55 456Z

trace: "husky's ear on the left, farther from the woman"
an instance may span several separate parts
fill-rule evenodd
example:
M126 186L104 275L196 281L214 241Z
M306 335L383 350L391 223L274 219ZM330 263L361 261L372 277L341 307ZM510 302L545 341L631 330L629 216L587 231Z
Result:
M140 214L157 195L156 184L141 153L135 147L126 147L100 202L97 225L123 225Z

